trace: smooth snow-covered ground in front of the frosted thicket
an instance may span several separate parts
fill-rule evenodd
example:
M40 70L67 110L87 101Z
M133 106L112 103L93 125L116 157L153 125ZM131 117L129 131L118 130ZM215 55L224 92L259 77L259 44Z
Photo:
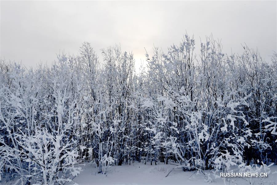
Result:
M223 179L214 177L213 182L206 181L203 173L195 173L195 171L184 172L182 169L173 170L165 177L175 165L165 165L163 163L157 165L144 165L142 162L131 163L131 165L112 166L108 169L106 175L98 174L94 164L86 164L83 171L79 174L74 182L81 184L224 184ZM276 171L277 166L272 166L271 171ZM209 171L203 171L205 175ZM232 178L230 184L249 184L240 178ZM255 181L255 179L254 179ZM273 182L269 182L273 181ZM229 182L226 182L229 184ZM258 184L258 183L252 183ZM277 184L276 174L269 175L264 178L264 184Z

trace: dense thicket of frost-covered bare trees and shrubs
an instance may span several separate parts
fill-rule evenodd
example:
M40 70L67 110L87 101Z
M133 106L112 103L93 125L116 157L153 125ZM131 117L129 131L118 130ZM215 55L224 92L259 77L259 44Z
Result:
M146 54L89 43L50 67L0 63L0 177L63 184L76 165L179 162L184 171L277 163L277 54L227 55L212 38ZM225 168L226 167L226 168ZM0 178L1 182L1 178Z

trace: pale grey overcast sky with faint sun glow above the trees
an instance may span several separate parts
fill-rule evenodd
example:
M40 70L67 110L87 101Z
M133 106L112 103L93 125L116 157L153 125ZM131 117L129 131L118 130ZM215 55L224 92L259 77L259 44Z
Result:
M100 49L121 45L136 66L153 44L166 51L183 35L222 39L223 52L241 43L266 60L277 49L277 1L0 1L1 58L29 67L56 53L77 54L83 41Z

